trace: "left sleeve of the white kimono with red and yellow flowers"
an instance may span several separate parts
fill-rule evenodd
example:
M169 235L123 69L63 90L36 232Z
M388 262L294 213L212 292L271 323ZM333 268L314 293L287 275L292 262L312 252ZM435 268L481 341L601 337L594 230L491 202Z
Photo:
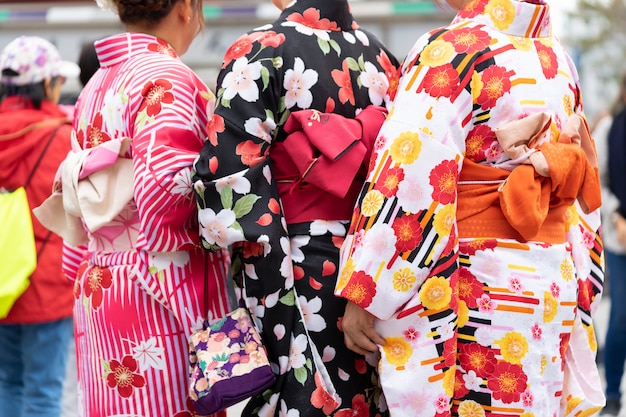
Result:
M407 58L379 132L335 290L382 320L417 297L426 308L447 308L458 273L457 182L472 97L450 62L420 63L426 44L418 40ZM450 82L435 88L441 71Z

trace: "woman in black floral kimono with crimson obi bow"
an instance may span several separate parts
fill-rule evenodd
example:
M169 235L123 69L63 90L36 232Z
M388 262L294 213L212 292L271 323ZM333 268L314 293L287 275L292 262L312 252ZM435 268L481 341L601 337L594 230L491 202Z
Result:
M278 20L226 53L194 176L203 243L232 245L278 375L243 415L386 415L377 360L345 347L333 291L398 62L347 0L273 3Z

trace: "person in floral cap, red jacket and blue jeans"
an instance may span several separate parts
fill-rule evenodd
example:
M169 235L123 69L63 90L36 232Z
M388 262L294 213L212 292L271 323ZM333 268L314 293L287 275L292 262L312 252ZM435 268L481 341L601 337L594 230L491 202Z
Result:
M65 79L79 70L34 36L10 42L0 54L0 70L0 189L28 182L32 208L50 193L56 169L71 149L71 125L57 102ZM61 266L61 238L34 216L32 221L37 268L0 320L0 414L58 417L74 297Z

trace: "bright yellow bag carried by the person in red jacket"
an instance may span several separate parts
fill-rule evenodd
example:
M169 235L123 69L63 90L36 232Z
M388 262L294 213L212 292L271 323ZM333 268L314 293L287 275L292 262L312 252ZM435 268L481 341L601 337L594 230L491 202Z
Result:
M0 319L30 284L37 266L35 235L26 190L0 193Z

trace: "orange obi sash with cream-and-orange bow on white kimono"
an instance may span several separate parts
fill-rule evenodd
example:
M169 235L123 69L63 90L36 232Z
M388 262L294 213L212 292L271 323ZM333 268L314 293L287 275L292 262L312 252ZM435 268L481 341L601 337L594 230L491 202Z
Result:
M563 243L565 212L574 201L585 213L600 207L597 157L586 122L573 115L557 141L539 144L551 123L549 115L538 113L496 129L515 161L510 170L464 160L459 237Z

